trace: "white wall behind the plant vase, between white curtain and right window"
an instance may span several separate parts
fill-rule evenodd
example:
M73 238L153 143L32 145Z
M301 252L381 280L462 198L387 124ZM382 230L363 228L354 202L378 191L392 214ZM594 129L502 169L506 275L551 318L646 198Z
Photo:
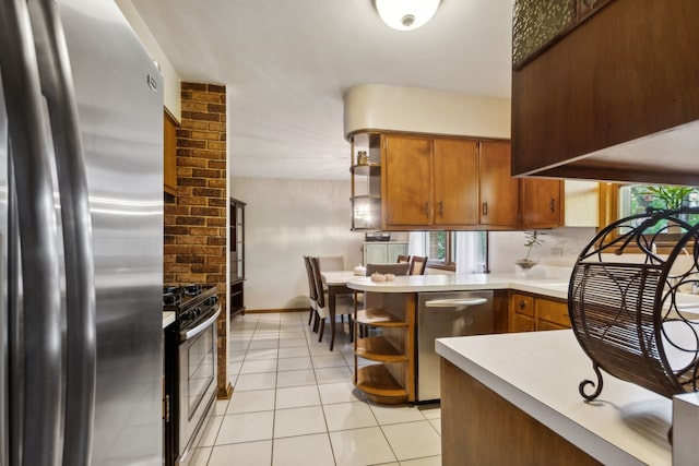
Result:
M594 227L553 228L538 230L544 241L535 248L530 259L538 261L532 268L532 277L568 278L580 251L594 237ZM490 231L490 272L495 274L517 273L514 261L524 258L524 231ZM560 255L558 254L560 252Z

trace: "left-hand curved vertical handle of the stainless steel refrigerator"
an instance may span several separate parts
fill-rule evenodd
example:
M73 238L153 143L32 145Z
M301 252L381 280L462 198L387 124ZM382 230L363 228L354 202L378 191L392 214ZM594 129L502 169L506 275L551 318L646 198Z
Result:
M10 464L56 465L62 451L61 283L46 118L25 0L0 2L0 50L16 179L25 347L22 457Z

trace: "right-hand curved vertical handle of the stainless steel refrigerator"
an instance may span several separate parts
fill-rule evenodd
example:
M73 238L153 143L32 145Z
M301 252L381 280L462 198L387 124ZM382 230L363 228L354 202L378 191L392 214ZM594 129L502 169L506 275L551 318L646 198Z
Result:
M68 321L63 464L90 465L97 350L87 175L58 4L55 0L28 0L27 3L61 198Z

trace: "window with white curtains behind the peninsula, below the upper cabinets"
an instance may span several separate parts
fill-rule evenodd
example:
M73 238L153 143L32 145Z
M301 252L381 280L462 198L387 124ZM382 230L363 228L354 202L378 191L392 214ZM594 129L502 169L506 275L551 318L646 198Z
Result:
M417 237L420 244L411 247L415 255L427 255L429 265L436 268L461 268L464 272L483 273L488 270L488 234L487 231L424 231L411 236ZM466 264L467 262L467 264Z

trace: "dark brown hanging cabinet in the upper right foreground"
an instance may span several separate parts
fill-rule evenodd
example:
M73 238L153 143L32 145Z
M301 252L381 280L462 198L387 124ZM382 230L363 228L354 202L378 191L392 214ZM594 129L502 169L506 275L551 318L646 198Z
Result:
M512 174L696 184L699 1L545 3L514 8Z

